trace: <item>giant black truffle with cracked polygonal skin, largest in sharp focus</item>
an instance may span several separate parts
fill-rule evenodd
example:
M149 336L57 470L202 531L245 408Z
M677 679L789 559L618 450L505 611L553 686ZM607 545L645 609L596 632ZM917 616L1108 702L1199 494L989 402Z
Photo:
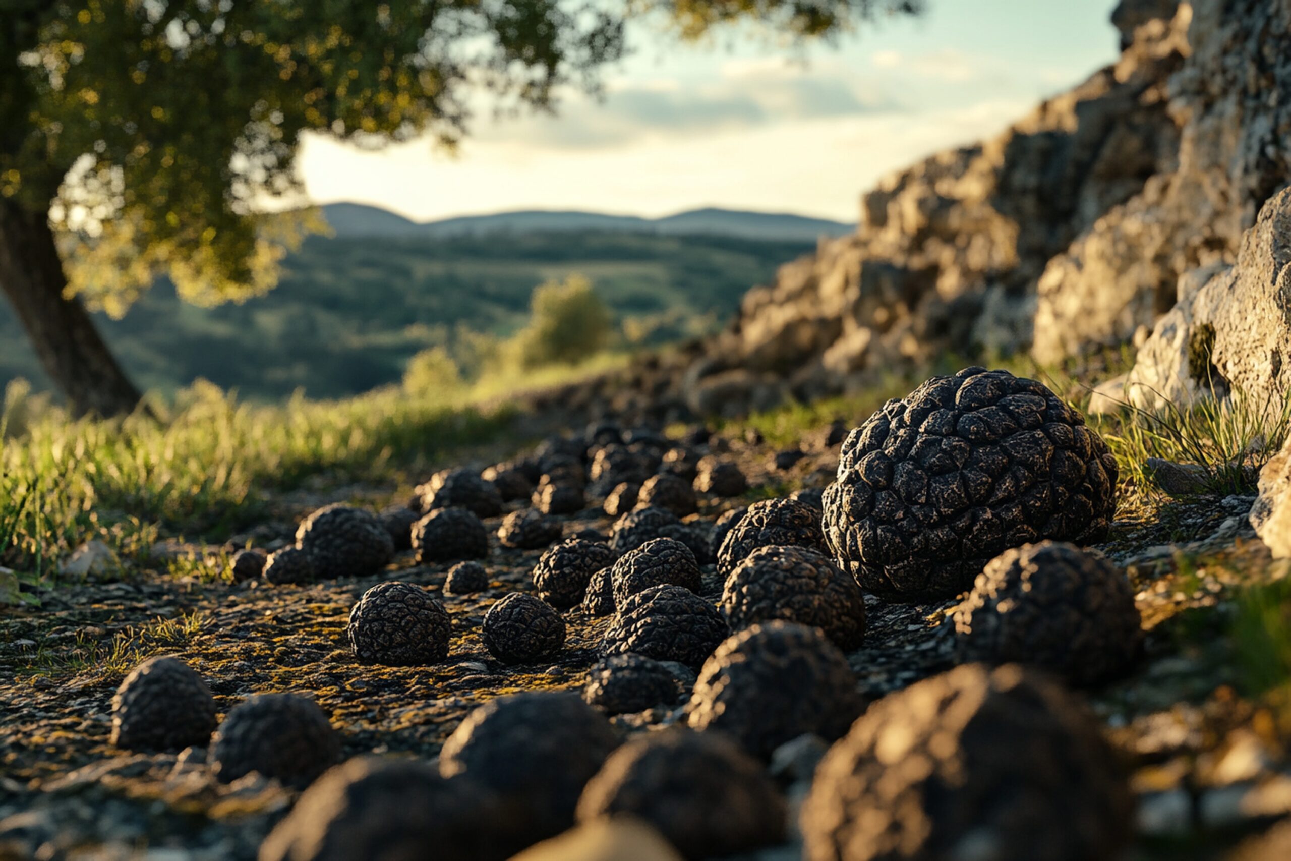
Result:
M1034 380L967 368L889 400L843 443L825 540L866 591L953 596L1008 547L1088 543L1115 511L1117 463Z

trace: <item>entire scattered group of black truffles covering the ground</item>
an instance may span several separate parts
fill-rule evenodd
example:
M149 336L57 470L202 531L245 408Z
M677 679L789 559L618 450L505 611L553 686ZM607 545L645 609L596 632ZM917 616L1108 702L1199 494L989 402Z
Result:
M494 600L479 639L503 665L545 663L567 649L568 620L595 625L581 696L492 700L435 763L327 771L341 747L312 701L258 696L217 724L203 680L155 658L123 683L112 740L209 746L221 780L258 771L309 786L262 861L501 861L607 817L649 826L687 860L751 852L791 831L776 763L812 745L828 747L802 804L812 861L1113 857L1131 827L1126 776L1060 682L1115 678L1141 647L1126 576L1077 546L1106 529L1115 483L1079 414L1038 382L980 368L930 380L851 431L824 493L746 507L723 501L749 481L707 431L670 440L602 422L482 472L440 472L402 510L328 506L296 546L234 560L239 578L301 583L372 577L408 549L452 565L440 595L456 600L491 589L491 531L502 547L544 550L536 595ZM608 534L564 534L563 515L598 505ZM866 594L964 591L964 663L868 704L848 662ZM360 663L443 661L452 609L380 582L354 605L349 645Z

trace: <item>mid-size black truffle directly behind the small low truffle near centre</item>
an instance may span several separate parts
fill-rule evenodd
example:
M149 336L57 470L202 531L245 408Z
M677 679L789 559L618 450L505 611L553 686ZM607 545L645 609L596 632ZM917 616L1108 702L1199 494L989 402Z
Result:
M655 586L629 595L605 631L605 654L636 652L697 667L729 634L713 604L688 589Z

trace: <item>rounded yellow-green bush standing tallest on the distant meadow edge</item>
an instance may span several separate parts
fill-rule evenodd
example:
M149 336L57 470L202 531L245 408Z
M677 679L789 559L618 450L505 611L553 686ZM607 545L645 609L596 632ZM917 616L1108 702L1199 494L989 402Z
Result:
M515 336L516 359L523 368L576 364L609 345L609 309L581 275L537 287L531 307L529 324Z

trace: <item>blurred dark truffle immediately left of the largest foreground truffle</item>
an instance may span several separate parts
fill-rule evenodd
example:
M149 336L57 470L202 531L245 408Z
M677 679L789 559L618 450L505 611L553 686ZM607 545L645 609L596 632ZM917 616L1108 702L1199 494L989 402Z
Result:
M780 843L786 807L762 765L729 740L682 727L615 751L578 799L578 820L631 816L688 861Z

